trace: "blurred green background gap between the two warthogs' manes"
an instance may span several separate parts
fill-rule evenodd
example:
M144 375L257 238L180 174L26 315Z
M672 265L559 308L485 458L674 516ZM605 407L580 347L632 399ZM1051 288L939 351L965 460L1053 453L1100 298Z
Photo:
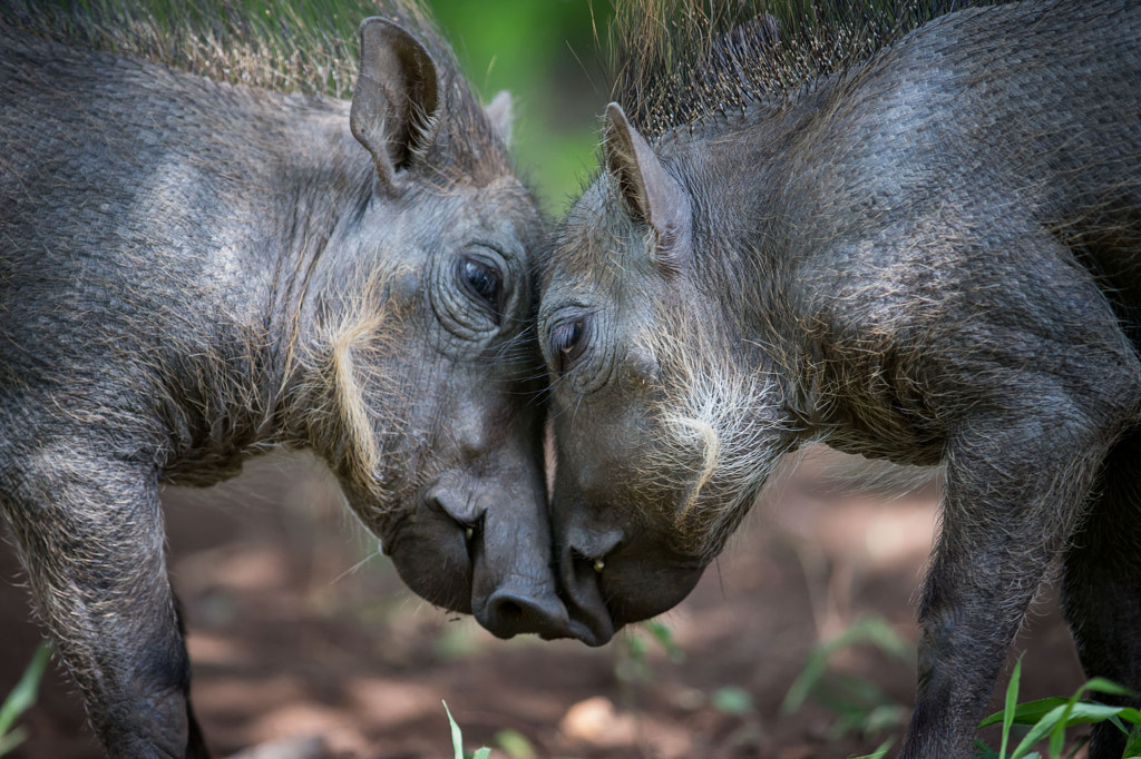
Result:
M484 101L509 90L512 152L550 213L597 165L609 81L599 40L607 0L427 0ZM596 36L597 28L597 36Z

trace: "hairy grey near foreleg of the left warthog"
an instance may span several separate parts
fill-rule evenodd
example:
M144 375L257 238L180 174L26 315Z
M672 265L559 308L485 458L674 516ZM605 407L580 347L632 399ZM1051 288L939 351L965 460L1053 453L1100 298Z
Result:
M110 756L205 757L155 473L83 450L25 446L0 474L35 602Z

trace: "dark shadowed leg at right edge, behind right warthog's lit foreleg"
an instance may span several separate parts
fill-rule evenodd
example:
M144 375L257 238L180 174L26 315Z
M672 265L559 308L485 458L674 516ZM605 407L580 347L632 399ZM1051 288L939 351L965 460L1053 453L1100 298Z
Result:
M1062 609L1090 677L1141 692L1141 433L1110 452L1095 498L1066 552ZM1095 696L1119 705L1138 699ZM1119 759L1124 734L1097 725L1091 759Z

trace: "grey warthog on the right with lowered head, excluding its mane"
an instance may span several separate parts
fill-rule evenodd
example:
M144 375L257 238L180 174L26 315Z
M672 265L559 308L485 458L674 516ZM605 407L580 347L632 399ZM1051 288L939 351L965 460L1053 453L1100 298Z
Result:
M1139 40L1125 0L971 9L653 147L608 108L539 313L580 637L678 603L824 440L946 466L900 756L971 756L1058 562L1086 671L1141 691Z

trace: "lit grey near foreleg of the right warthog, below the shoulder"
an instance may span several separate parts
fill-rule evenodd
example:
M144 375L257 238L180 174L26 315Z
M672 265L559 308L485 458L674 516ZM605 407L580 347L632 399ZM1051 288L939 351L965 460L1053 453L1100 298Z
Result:
M949 442L942 531L920 609L919 695L901 757L972 754L1006 651L1082 514L1112 435L1073 408L1054 406L1052 416L1049 427L1031 409L974 419Z

